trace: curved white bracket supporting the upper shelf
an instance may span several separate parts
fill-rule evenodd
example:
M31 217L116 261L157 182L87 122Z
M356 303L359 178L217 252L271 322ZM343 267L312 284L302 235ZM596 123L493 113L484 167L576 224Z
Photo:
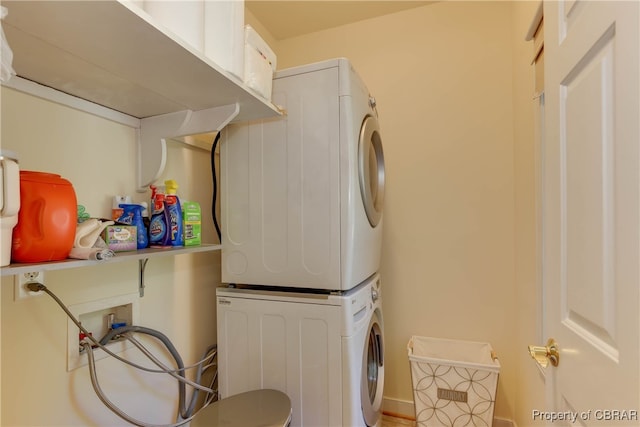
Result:
M192 135L220 132L240 113L240 104L222 105L206 110L183 110L140 120L138 130L138 192L147 191L164 171L167 163L167 139L200 146Z

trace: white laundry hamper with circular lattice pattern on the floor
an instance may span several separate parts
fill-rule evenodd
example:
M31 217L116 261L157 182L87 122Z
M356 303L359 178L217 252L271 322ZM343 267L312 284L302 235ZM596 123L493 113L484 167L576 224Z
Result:
M407 351L417 426L493 424L500 362L490 344L413 336Z

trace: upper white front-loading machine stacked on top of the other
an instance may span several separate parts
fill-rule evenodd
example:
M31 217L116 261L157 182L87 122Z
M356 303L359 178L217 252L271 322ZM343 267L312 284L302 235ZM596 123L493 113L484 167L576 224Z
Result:
M280 71L284 117L221 136L222 281L347 290L378 271L384 158L347 59Z

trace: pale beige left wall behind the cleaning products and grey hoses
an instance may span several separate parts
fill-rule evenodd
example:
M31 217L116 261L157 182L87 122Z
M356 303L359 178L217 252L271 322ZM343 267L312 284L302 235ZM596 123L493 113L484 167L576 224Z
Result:
M134 129L2 88L2 148L19 153L24 170L69 179L78 202L93 216L110 216L110 196L135 193ZM169 144L165 178L175 178L184 199L203 207L205 241L213 242L209 153ZM140 324L165 333L185 362L214 343L215 252L151 259ZM138 263L47 271L45 284L67 305L136 293ZM13 277L2 277L3 426L122 425L100 403L86 368L66 371L67 319L48 296L13 301ZM158 375L141 375L112 360L98 362L109 397L143 420L173 419L176 386ZM143 393L139 393L143 390Z

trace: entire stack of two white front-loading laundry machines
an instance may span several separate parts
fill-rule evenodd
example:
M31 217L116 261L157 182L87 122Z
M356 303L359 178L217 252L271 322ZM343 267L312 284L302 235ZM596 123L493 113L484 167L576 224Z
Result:
M285 392L292 426L380 424L384 160L347 59L276 73L286 115L221 137L221 397Z

